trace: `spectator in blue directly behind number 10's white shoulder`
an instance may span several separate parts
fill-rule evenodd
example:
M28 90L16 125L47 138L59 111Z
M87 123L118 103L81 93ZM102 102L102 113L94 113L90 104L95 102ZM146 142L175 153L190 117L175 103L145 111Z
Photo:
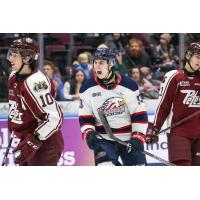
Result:
M54 65L52 61L46 60L44 62L44 74L48 76L50 79L52 79L55 90L56 90L56 96L55 99L57 101L62 101L64 100L64 86L63 82L61 80L61 75L59 72L59 69Z

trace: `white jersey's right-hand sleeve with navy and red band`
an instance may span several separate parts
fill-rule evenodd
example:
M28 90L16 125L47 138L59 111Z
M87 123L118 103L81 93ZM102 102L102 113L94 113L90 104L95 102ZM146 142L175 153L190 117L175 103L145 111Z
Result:
M148 115L138 89L129 91L127 106L131 117L132 132L146 134Z

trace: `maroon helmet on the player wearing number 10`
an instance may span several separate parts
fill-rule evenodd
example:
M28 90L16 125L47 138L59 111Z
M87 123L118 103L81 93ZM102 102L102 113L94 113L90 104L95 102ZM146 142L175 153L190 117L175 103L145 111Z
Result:
M12 53L19 52L23 59L28 61L38 60L39 57L39 46L34 39L25 37L14 40L9 47L7 58L12 55Z

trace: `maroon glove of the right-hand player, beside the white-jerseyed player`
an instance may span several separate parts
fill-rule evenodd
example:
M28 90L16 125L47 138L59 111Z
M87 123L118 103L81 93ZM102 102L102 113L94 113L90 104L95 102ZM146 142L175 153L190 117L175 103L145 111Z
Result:
M147 128L147 134L146 134L146 143L147 144L153 144L158 142L158 135L159 135L160 129L156 126L154 126L153 123L149 122L148 128Z

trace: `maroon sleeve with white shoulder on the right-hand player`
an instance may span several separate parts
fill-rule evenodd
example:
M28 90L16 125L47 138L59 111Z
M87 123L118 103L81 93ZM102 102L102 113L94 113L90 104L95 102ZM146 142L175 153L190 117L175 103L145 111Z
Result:
M160 87L159 104L154 118L154 125L159 128L162 127L172 109L173 100L178 87L177 80L175 78L176 74L177 70L168 72L165 75L164 81Z

